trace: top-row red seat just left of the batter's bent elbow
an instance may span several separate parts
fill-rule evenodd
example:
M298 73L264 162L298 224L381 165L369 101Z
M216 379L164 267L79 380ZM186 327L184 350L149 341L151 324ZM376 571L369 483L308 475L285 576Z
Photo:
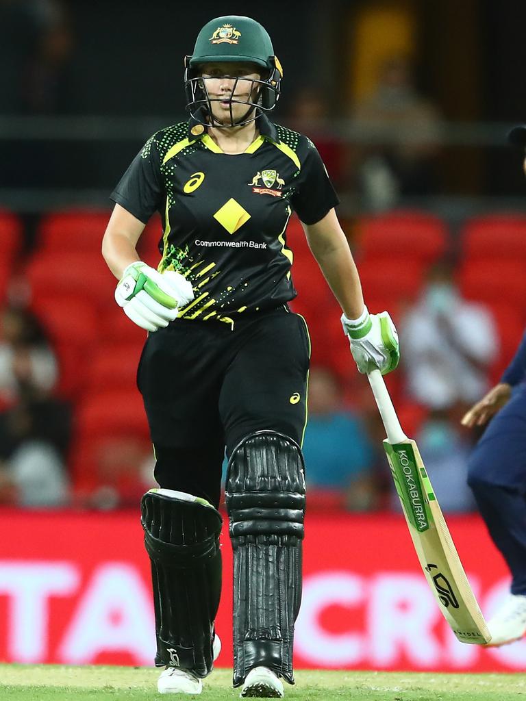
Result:
M47 215L37 233L39 248L101 255L102 236L110 214L109 210L71 210Z

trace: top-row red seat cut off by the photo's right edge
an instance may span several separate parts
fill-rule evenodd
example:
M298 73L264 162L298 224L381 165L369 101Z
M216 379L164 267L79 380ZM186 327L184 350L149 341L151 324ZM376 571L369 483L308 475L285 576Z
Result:
M526 261L525 215L486 215L470 219L461 232L466 259L522 259Z

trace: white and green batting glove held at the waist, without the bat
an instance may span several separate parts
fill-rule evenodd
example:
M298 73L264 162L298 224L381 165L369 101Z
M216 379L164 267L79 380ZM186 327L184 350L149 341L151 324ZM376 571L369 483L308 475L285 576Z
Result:
M125 268L115 288L115 300L137 326L156 331L177 317L194 299L189 281L180 273L159 273L142 261Z

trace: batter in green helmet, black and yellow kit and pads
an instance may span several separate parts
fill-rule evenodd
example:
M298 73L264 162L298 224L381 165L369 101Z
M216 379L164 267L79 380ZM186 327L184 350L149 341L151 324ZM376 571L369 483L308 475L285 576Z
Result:
M234 686L283 697L302 585L309 336L291 313L296 212L344 314L360 372L398 363L369 315L316 148L271 123L282 69L250 18L208 22L185 62L189 121L145 144L116 186L102 254L115 297L149 332L137 371L160 489L142 498L161 693L201 692L219 650L222 460L234 550ZM135 245L163 222L157 270Z

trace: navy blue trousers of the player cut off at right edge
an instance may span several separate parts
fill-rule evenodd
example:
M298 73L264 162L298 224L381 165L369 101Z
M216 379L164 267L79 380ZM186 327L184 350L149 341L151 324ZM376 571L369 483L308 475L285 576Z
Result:
M468 484L490 536L526 594L526 386L492 418L468 463Z

